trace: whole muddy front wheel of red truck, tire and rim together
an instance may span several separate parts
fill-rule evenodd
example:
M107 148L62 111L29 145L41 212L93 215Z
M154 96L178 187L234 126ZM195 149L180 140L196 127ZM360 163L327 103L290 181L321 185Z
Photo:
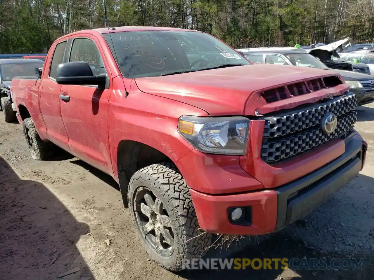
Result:
M186 181L172 164L153 164L135 172L128 205L142 245L167 270L183 270L183 260L201 258L211 244L211 234L197 223Z

